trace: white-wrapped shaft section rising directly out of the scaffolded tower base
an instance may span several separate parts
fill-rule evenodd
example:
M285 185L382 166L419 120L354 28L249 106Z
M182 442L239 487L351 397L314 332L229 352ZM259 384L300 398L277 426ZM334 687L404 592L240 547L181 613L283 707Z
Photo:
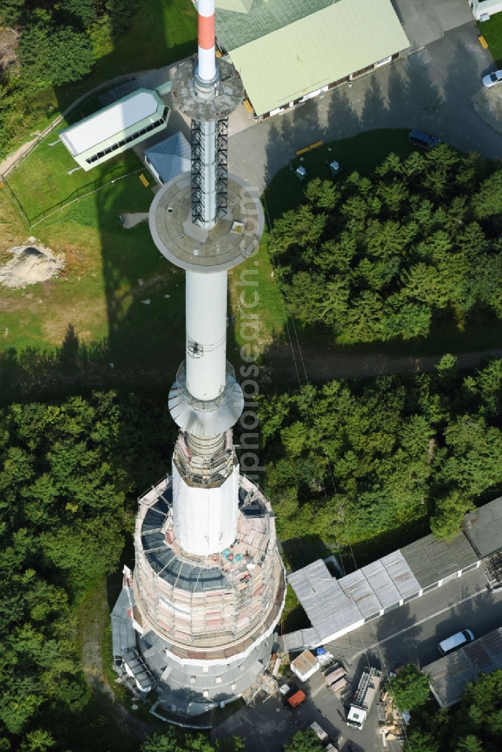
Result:
M173 516L178 544L187 553L209 556L235 541L239 511L239 465L218 488L189 486L172 463Z

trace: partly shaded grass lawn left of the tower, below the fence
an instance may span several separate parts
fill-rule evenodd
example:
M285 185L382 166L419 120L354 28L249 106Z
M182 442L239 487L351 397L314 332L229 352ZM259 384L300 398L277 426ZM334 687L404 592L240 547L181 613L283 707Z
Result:
M136 158L131 153L129 159ZM66 265L59 278L44 284L2 288L2 399L16 396L23 379L27 391L40 387L44 393L53 382L56 393L64 392L65 384L71 390L71 383L78 389L120 388L124 382L148 389L152 379L169 389L184 350L184 277L161 256L148 223L123 229L119 220L123 212L148 211L153 197L137 174L124 177L32 231L54 252L64 253ZM5 261L5 249L26 241L29 231L3 192L0 216L0 231L5 229L0 260ZM64 365L68 335L72 347L78 340L69 371Z

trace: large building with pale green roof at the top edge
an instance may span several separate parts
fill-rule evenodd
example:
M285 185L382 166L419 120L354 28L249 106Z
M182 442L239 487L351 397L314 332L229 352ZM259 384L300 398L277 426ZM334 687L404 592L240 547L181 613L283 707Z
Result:
M216 0L216 41L263 117L373 71L409 47L391 0Z

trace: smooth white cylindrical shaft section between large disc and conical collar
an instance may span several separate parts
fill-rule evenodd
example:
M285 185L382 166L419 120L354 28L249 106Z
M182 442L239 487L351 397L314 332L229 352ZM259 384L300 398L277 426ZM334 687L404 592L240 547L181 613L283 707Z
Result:
M187 271L187 390L216 399L226 383L227 272Z

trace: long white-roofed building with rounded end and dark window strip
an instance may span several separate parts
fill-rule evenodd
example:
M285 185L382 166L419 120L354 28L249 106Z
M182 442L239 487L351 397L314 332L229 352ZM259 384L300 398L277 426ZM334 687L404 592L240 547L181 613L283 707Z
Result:
M169 108L157 92L138 89L59 131L59 138L87 171L160 132L168 120Z

